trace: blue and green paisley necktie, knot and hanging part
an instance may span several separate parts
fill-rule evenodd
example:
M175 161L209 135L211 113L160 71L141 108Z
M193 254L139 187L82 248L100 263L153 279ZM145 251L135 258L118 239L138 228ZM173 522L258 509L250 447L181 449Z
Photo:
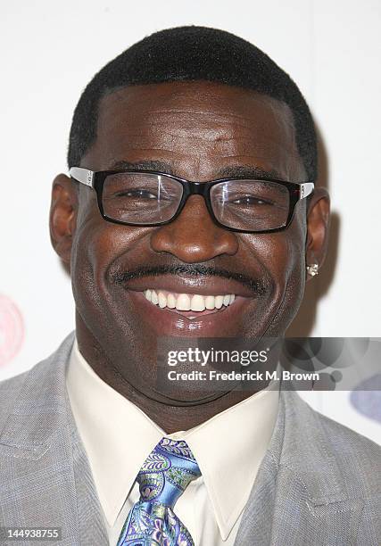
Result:
M129 511L117 546L194 546L173 507L198 476L200 469L186 442L162 438L137 475L140 499Z

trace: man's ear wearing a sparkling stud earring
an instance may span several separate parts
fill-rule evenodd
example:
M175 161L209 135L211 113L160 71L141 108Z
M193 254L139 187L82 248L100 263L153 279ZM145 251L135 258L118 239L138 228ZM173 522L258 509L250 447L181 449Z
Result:
M325 188L315 188L307 213L306 265L317 264L319 269L327 255L329 232L329 195ZM311 279L307 275L307 279Z

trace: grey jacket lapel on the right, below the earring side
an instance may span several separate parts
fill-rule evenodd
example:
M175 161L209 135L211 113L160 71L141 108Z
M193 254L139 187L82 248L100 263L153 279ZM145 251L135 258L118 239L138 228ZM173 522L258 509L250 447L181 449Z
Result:
M297 393L281 393L277 425L236 546L356 544L362 508L362 501L347 494L319 414Z

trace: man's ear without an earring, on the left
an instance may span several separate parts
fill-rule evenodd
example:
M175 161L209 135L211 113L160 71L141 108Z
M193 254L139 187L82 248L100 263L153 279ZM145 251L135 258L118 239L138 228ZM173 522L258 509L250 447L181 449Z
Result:
M55 252L70 266L72 236L76 227L78 191L64 174L54 178L50 206L50 239Z

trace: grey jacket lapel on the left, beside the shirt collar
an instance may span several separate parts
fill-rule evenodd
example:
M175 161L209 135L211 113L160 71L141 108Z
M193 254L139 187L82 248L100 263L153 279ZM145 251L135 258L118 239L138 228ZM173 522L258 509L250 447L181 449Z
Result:
M59 527L62 546L105 545L104 520L66 392L73 340L70 334L51 357L10 380L16 396L0 434L0 522ZM95 525L95 542L84 518Z

